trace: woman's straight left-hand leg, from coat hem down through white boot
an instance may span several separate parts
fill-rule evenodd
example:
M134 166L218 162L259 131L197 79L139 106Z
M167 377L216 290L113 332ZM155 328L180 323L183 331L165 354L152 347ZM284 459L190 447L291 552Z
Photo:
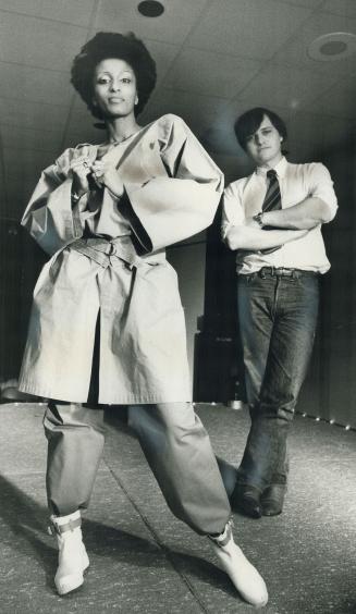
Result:
M83 585L89 558L81 509L88 506L103 447L103 410L50 402L44 419L48 439L47 496L58 540L54 584L59 594Z

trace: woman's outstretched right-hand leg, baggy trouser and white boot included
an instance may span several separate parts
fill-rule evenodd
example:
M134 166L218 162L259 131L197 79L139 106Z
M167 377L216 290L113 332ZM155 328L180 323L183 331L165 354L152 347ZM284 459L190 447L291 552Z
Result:
M234 542L226 490L209 435L192 404L131 406L128 423L173 514L211 539L221 567L242 597L265 605L265 581Z

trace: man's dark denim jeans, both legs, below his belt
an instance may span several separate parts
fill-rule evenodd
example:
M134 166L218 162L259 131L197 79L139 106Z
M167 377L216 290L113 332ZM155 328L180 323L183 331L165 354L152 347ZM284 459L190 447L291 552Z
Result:
M237 305L251 418L237 481L263 491L286 483L286 439L312 349L319 278L263 269L238 275Z

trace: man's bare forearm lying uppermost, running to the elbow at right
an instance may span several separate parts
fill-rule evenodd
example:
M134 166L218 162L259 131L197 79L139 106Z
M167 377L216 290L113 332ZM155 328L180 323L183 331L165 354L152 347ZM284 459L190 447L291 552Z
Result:
M318 224L330 222L333 217L333 210L328 202L321 200L321 198L310 196L286 209L263 213L262 222L263 226L310 230Z

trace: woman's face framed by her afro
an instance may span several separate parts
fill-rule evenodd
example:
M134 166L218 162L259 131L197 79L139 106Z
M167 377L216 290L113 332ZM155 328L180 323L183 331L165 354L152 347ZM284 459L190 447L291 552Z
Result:
M108 58L94 74L94 101L105 118L123 118L137 105L136 76L127 62Z

